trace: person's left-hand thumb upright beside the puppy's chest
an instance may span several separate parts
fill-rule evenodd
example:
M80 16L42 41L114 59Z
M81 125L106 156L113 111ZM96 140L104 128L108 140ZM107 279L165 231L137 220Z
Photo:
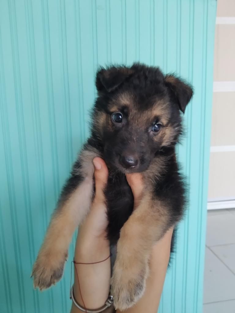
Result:
M105 188L108 180L108 169L104 162L104 160L100 157L95 157L93 160L93 164L95 166L95 186L96 186L96 194L95 199L103 201L104 194L103 189Z

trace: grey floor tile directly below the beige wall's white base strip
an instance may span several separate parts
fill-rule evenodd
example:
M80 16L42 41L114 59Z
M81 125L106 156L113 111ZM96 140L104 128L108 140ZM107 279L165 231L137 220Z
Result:
M206 245L235 244L235 214L213 210L207 214Z

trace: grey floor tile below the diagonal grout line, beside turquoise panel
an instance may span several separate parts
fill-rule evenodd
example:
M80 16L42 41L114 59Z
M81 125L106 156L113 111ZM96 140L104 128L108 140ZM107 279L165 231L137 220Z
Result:
M206 248L203 302L211 303L231 299L235 299L235 275L212 251Z

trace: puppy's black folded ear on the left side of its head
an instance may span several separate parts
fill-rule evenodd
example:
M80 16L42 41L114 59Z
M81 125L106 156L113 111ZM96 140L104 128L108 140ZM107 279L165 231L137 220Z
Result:
M112 66L108 69L100 69L96 74L96 88L98 92L111 92L118 88L123 81L133 73L127 67Z

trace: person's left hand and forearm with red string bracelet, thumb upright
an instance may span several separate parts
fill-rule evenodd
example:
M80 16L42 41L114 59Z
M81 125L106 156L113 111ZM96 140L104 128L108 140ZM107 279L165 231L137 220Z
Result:
M75 264L73 292L78 303L96 309L101 307L108 297L111 264L108 258L110 254L109 240L106 237L108 221L103 194L108 169L99 157L94 158L93 163L96 192L90 212L79 227L74 255L77 263ZM102 260L105 261L97 263ZM94 264L91 264L93 262ZM87 265L87 263L90 264ZM81 310L72 305L71 312L80 313Z

